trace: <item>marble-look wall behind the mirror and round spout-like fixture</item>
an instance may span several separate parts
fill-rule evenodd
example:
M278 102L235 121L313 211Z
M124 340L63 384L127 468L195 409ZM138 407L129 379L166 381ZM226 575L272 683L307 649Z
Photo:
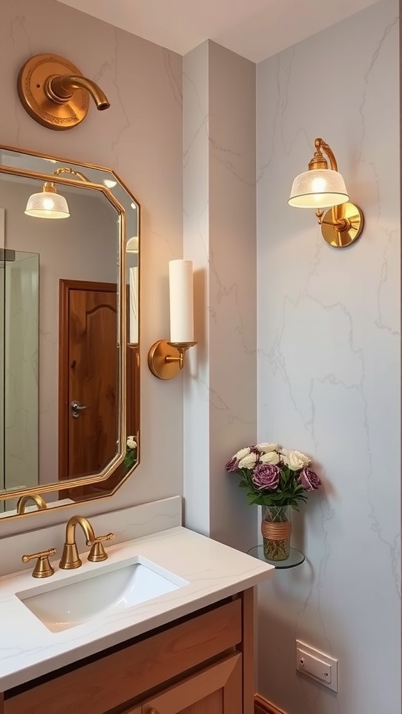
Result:
M99 82L110 109L92 104L69 131L36 124L19 102L16 77L44 51ZM149 346L169 333L168 261L182 256L182 59L53 0L2 2L0 59L0 143L109 166L141 204L141 463L110 507L182 493L182 381L161 383L147 370ZM88 503L85 513L108 503ZM52 518L63 520L63 511ZM28 529L30 521L4 523L1 532Z

